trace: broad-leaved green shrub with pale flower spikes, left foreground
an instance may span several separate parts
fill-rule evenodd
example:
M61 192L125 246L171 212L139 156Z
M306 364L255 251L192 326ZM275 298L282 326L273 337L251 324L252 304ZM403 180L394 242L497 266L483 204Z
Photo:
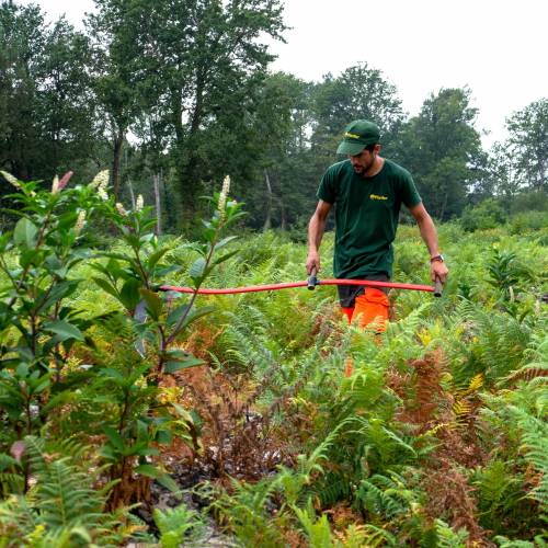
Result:
M204 243L194 246L201 256L190 267L193 295L173 307L173 299L156 293L157 281L176 270L162 263L170 248L159 244L150 208L142 208L140 199L126 212L109 198L107 172L75 189L65 189L70 174L61 181L56 178L50 192L3 175L19 191L12 198L22 204L21 219L0 239L5 278L0 294L0 410L10 425L5 446L15 442L13 450L24 434L61 430L70 435L79 425L82 438L91 433L104 436L100 454L111 466L103 473L114 482L109 507L134 501L150 479L176 492L178 486L153 460L160 455L157 447L171 443L174 433L195 446L196 432L185 409L175 402L158 404L159 377L202 363L173 345L212 310L194 308L197 289L213 269L233 255L217 255L232 239L221 238L221 231L241 216L241 205L228 198L229 179L214 196L216 209L204 222ZM89 247L87 221L94 215L121 231L124 252L98 254ZM104 276L94 281L118 309L84 319L70 297L82 283L75 277L77 266L92 256L106 259L106 264L92 263ZM107 341L96 336L101 330L109 333ZM92 364L75 368L71 361L78 354L91 356ZM73 419L70 426L66 416ZM59 460L56 473L69 477L64 466ZM3 457L3 495L20 491L18 468L19 461ZM26 493L31 468L22 468ZM59 492L52 496L70 496L64 484L57 487ZM71 527L72 522L58 525Z

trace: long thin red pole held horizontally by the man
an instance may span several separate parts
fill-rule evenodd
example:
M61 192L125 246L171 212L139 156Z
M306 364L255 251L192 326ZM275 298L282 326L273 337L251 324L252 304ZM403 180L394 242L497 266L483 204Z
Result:
M412 289L415 292L434 293L434 287L431 285L416 284L397 284L392 282L373 282L369 279L322 279L316 281L317 285L364 285L367 287L390 287L392 289ZM228 289L198 289L199 295L231 295L235 293L255 293L255 292L272 292L276 289L290 289L293 287L309 287L307 282L293 282L286 284L270 284L270 285L252 285L249 287L232 287ZM194 293L192 287L178 287L174 285L161 285L160 292L178 292L178 293Z

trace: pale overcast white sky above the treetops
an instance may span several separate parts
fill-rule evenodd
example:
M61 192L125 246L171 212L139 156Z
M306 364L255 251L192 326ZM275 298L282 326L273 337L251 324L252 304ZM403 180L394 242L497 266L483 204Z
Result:
M30 3L25 1L23 3ZM52 19L79 24L92 0L39 0ZM285 0L287 44L273 69L306 80L358 61L383 71L404 110L431 92L468 85L478 129L504 137L504 119L548 96L547 0Z

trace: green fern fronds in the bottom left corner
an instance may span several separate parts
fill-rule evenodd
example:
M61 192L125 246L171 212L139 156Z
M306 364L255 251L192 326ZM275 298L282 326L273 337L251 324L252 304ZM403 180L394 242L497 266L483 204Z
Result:
M123 513L104 513L112 484L98 490L101 468L90 473L89 447L70 441L46 447L33 436L24 439L34 486L23 495L0 503L0 539L25 546L89 546L92 541L121 543L135 527ZM47 452L46 452L47 450ZM64 456L60 456L64 455Z

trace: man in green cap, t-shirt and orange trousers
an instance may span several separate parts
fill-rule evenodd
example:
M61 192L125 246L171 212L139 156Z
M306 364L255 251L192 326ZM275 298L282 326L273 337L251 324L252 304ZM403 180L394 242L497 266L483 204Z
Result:
M437 276L445 283L448 270L437 247L434 222L410 173L379 156L379 128L372 122L357 119L346 126L336 152L347 155L349 159L331 165L318 189L318 207L308 227L307 272L320 271L318 250L334 205L334 275L345 279L389 281L392 241L400 207L404 204L416 219L429 249L432 281ZM349 321L359 315L361 327L376 321L380 330L388 320L386 293L374 287L339 286L341 307Z

